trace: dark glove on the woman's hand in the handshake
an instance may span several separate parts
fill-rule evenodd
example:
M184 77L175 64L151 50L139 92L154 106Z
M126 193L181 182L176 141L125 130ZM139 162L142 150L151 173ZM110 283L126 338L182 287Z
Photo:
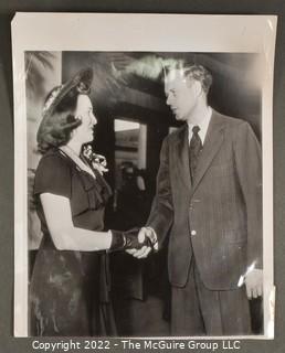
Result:
M126 249L140 249L142 246L151 246L150 240L146 238L144 243L138 242L139 228L133 228L127 232L112 229L112 242L109 252L119 252Z

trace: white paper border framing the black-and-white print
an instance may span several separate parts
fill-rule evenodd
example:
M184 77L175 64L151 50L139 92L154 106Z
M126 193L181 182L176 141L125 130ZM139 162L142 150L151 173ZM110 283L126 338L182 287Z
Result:
M265 278L264 334L240 338L274 338L275 287L273 280L273 72L276 25L277 17L275 15L35 12L15 14L12 21L15 141L15 336L28 336L28 190L24 52L156 51L197 53L260 53L264 56L265 66L263 72L264 77L262 87L262 131L266 131L266 133L263 133L262 143L263 258ZM76 33L76 35L71 35L71 33ZM89 33L92 33L92 36ZM207 336L203 339L213 338ZM214 339L218 338L215 336ZM224 339L224 336L222 339Z

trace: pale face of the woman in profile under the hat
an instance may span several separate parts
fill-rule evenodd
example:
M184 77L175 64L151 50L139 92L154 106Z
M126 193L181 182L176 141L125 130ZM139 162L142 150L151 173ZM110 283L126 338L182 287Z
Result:
M76 139L82 143L93 141L93 128L97 124L97 119L93 114L93 106L88 96L78 95L75 118L82 120L75 132Z

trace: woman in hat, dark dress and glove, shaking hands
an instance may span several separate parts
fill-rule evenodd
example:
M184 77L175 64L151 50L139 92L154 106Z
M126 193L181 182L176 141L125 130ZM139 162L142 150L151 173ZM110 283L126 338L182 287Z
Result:
M82 154L96 118L84 69L48 96L38 130L34 196L43 239L30 282L31 335L116 335L106 250L141 247L137 235L104 232L110 189L104 165Z

